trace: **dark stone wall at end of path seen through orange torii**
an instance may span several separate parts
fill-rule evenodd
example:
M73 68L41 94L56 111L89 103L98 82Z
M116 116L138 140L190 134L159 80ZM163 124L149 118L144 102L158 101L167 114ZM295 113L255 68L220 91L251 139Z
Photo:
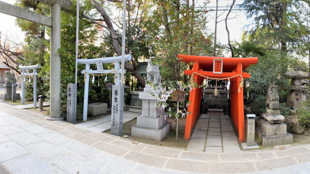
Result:
M208 109L223 109L224 114L228 114L228 90L218 89L220 95L214 96L214 89L203 90L202 113L207 113Z

